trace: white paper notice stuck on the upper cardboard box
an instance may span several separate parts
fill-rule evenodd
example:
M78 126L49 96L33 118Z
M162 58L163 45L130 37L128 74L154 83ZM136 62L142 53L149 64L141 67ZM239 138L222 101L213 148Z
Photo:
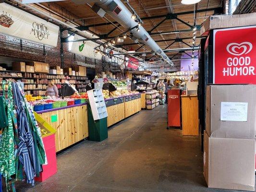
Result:
M220 120L247 121L248 103L221 102Z

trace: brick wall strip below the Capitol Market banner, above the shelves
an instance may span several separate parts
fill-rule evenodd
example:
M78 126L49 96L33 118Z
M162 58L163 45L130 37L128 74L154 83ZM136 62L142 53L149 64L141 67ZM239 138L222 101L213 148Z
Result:
M62 36L68 36L64 31ZM57 47L43 46L31 41L0 34L0 56L19 60L31 60L49 63L50 66L61 66L61 39L59 34ZM63 43L64 67L72 67L77 63L95 65L96 72L101 73L103 64L101 60L75 55L68 50L68 43Z

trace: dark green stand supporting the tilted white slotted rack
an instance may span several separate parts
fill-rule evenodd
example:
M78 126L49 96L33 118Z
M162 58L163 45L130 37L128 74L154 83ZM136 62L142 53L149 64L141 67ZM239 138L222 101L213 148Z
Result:
M94 120L90 104L88 108L89 141L103 141L108 138L107 118Z

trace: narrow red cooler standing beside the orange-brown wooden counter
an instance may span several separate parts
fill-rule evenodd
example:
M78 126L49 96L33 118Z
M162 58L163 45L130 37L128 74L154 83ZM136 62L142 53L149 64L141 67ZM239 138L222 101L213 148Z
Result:
M167 129L181 128L181 90L171 89L167 92Z

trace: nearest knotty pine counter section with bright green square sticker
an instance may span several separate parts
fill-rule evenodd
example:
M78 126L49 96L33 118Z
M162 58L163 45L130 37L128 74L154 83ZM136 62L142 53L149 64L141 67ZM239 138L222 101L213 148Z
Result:
M56 152L89 136L86 104L37 111L37 113L57 130Z

